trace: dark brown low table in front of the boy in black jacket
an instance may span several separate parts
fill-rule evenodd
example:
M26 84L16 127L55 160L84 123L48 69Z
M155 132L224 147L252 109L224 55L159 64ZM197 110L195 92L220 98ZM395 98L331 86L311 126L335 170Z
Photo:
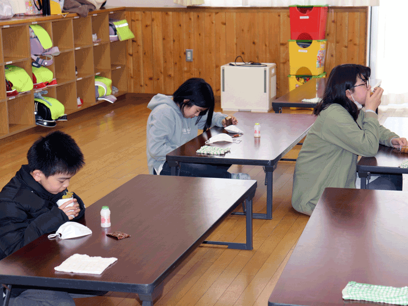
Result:
M0 261L0 279L9 285L133 292L143 306L152 305L166 277L243 201L246 243L208 243L252 249L256 187L256 181L138 175L86 209L92 235L67 240L43 235ZM99 213L106 205L112 226L102 228ZM106 236L115 231L131 237ZM54 270L75 253L118 260L101 275Z

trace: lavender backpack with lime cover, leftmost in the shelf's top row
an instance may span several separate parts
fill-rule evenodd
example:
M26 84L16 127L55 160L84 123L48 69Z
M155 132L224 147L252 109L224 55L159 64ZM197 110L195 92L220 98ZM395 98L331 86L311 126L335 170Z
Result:
M53 47L51 37L39 24L30 25L30 46L34 67L52 65L54 62L53 56L60 55L58 47Z

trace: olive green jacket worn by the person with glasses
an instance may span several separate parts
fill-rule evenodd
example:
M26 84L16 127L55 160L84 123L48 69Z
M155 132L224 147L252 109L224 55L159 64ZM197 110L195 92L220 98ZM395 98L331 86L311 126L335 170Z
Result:
M339 104L321 111L296 160L293 208L310 214L324 188L355 188L358 156L375 156L378 143L392 146L395 137L399 138L378 123L377 114L364 108L356 121Z

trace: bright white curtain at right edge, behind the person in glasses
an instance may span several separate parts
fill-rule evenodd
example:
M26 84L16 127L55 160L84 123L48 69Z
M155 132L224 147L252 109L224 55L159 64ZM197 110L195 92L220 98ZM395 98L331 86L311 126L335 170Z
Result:
M408 1L400 0L381 0L378 8L377 39L372 42L376 44L376 54L372 55L371 65L375 65L375 78L382 80L382 106L405 104L408 107L408 43L404 26L407 10Z

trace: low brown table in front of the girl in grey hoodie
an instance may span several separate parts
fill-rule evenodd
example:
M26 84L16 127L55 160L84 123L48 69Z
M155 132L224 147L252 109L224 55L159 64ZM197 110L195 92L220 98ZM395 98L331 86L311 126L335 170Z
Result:
M254 218L272 219L272 172L277 162L287 154L310 130L316 117L300 114L274 114L237 112L237 127L243 131L241 143L218 142L215 146L231 147L225 155L202 155L196 151L211 137L223 133L222 127L213 127L166 156L172 175L178 174L179 163L238 164L264 166L266 172L266 214L253 214ZM253 126L261 124L261 137L253 137ZM242 213L236 213L242 214Z

